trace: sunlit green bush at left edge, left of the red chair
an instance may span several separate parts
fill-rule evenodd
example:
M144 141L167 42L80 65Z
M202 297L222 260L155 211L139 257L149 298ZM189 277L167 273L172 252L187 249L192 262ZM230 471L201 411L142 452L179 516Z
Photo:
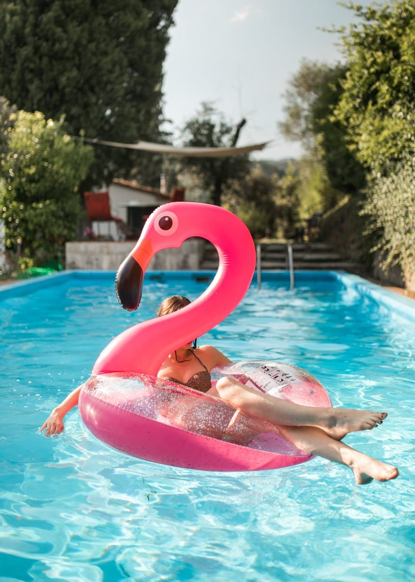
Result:
M0 210L6 247L19 251L20 264L27 268L62 253L63 244L74 237L78 186L94 152L64 133L63 120L25 111L12 120L8 151L0 159Z

